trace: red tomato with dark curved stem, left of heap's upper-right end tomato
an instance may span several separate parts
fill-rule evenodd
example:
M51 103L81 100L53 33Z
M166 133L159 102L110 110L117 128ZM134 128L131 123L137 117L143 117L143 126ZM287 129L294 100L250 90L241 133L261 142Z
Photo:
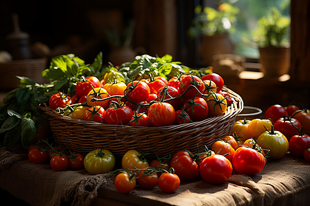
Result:
M196 89L194 87L196 87ZM180 80L178 92L180 95L183 95L185 100L187 100L194 98L195 95L196 97L201 97L200 93L203 93L204 90L205 84L203 83L203 80L198 78L198 76L190 75L185 76ZM200 93L198 93L198 91L200 91Z

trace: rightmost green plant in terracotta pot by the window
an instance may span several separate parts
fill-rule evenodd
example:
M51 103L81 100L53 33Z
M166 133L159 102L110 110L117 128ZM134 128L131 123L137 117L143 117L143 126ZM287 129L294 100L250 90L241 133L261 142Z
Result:
M289 71L290 47L287 38L291 20L278 8L271 8L258 20L254 41L260 54L260 71L265 76L282 76Z

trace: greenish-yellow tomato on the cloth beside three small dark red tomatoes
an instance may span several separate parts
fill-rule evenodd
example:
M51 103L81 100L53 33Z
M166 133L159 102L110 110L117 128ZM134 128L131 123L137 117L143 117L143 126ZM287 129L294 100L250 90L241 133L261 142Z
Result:
M111 172L115 166L115 157L109 150L96 149L84 159L85 170L90 174Z

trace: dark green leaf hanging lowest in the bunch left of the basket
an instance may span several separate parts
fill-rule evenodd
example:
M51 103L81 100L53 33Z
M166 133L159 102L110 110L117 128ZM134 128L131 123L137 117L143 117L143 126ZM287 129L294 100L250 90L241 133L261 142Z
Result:
M37 126L31 118L23 117L21 119L21 144L24 148L27 148L37 132Z

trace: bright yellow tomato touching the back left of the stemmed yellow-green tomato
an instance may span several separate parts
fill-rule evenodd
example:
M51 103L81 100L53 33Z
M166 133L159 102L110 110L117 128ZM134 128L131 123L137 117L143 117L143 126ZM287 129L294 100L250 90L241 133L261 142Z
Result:
M272 122L270 119L252 119L247 129L250 137L257 139L266 130L271 130L271 126Z

